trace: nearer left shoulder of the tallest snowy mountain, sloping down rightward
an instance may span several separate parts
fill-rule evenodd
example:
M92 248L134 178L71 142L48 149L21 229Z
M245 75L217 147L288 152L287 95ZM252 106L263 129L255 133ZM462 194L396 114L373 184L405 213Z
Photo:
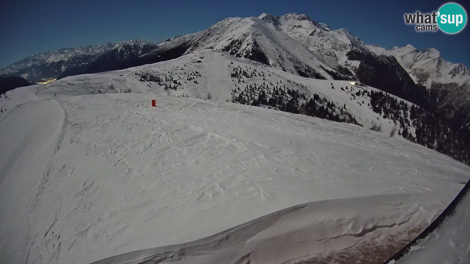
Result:
M327 70L335 71L331 58L312 52L297 39L282 31L271 15L257 17L231 17L212 25L192 40L187 53L212 47L230 54L249 58L290 73L315 78L331 78ZM267 22L266 22L266 21ZM320 65L320 66L319 66Z

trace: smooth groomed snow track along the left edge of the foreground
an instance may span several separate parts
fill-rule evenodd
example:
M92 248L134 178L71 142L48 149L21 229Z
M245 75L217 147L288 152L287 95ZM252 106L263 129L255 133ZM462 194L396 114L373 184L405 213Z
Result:
M5 263L25 263L28 240L39 232L30 230L30 221L38 219L30 219L29 212L37 202L48 203L35 197L36 187L49 184L43 172L63 120L59 103L49 100L28 103L0 122L0 259Z

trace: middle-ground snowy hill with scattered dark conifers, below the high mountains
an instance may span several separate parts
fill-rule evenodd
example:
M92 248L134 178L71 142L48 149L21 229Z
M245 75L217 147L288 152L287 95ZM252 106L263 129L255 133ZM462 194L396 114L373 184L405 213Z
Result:
M185 49L182 50L180 52ZM393 57L387 58L398 64ZM370 72L384 69L385 65L372 68ZM361 65L358 72L367 73L367 70ZM387 84L393 88L392 83ZM463 163L470 161L465 130L452 121L470 124L470 116L465 113L447 111L446 116L436 116L410 101L367 85L303 78L211 49L126 70L68 77L35 89L49 96L131 92L207 98L210 93L216 101L260 105L365 128L375 127L386 135L416 142ZM3 108L0 118L3 118L18 104L0 99L0 108Z

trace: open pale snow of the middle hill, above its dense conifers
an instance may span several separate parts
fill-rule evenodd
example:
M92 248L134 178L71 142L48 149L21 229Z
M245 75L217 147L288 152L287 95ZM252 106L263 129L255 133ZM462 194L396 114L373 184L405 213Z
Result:
M257 70L258 74L263 72L265 76L243 78L244 83L243 81L239 83L237 78L231 77L236 67L241 67L238 69L247 70L248 72ZM201 76L192 74L196 71ZM150 79L140 81L142 76L147 75L161 78L161 85L155 80L149 81ZM188 81L188 77L194 78L197 84L194 83L193 79ZM165 78L167 78L166 82L164 81ZM170 78L173 78L173 80ZM174 85L173 81L179 82L181 85ZM236 90L236 96L239 96L246 86L255 84L259 86L263 83L266 83L270 90L277 86L298 90L308 96L313 96L316 93L321 98L326 98L328 101L335 103L338 107L345 106L346 109L344 110L351 113L359 124L364 127L370 127L372 122L382 125L383 133L387 135L395 126L393 120L384 118L372 111L368 105L370 98L367 95L356 95L358 91L379 91L375 88L354 86L349 81L303 78L258 62L211 50L122 71L67 77L49 84L39 85L38 91L39 93L49 95L56 93L57 96L63 96L65 94L98 94L100 91L102 93L124 93L129 89L133 93L189 96L193 98L206 98L208 93L211 93L214 100L231 101L233 90ZM172 87L177 86L177 88L165 90L165 85L167 87L169 85L172 85ZM331 86L334 86L335 89L332 89ZM268 94L267 96L270 97L271 95ZM411 105L409 102L408 104Z

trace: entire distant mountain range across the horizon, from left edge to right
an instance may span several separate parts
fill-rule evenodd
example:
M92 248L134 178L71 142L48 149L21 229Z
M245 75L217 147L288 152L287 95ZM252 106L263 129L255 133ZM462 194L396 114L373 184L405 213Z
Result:
M438 50L368 45L345 29L332 30L295 13L230 17L158 43L127 40L36 54L1 69L0 76L37 83L161 62L202 49L223 50L306 78L356 79L451 115L470 105L470 70L447 62Z

